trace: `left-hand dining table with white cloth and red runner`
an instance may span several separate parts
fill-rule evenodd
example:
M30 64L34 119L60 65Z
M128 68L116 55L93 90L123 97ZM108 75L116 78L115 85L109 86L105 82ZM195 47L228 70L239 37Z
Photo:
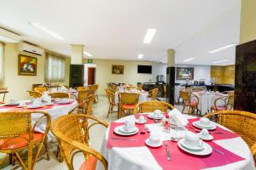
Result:
M53 99L54 100L54 99ZM55 121L55 119L59 116L67 115L69 111L72 111L77 105L78 102L75 99L70 99L67 104L56 104L53 102L53 105L43 105L42 107L38 108L28 108L28 105L31 105L31 100L20 100L17 103L24 103L23 107L19 107L18 105L1 105L0 106L0 114L4 111L45 111L51 117L51 122ZM32 124L38 121L40 114L32 115ZM39 133L44 133L44 129L46 124L44 121L38 122L37 126L35 127L35 131ZM54 139L54 135L49 131L48 140Z

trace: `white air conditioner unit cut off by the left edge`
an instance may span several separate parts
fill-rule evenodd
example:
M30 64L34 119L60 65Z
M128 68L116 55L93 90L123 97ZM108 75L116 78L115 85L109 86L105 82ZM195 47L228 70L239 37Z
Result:
M14 32L0 28L0 41L3 42L20 42L21 37Z

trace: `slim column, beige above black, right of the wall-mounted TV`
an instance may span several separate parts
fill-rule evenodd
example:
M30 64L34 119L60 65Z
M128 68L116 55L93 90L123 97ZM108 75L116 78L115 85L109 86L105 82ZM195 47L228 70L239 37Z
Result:
M167 98L170 104L174 105L175 91L175 51L174 49L167 50L167 68L166 68L166 83L167 83Z

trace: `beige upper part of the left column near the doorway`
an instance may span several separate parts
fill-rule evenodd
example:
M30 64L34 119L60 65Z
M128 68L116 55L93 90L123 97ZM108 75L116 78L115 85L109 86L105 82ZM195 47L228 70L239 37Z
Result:
M82 65L83 64L84 45L72 44L71 45L71 64Z

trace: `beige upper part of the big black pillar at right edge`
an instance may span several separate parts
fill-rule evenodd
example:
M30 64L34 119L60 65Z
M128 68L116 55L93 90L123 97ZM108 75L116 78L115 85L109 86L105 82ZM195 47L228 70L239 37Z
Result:
M256 1L241 0L241 28L240 42L249 42L256 39Z

